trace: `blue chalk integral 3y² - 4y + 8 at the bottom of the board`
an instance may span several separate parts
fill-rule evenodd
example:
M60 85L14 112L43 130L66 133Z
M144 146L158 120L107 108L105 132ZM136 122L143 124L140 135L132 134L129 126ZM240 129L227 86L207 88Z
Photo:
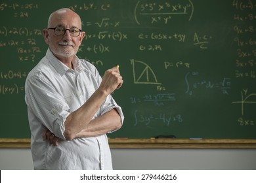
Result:
M145 114L144 112L140 112L139 110L135 110L133 113L135 122L133 125L146 125L146 127L152 127L152 125L156 124L164 124L169 126L171 124L181 124L183 122L181 114L172 114L164 113L164 112L156 112L155 114Z

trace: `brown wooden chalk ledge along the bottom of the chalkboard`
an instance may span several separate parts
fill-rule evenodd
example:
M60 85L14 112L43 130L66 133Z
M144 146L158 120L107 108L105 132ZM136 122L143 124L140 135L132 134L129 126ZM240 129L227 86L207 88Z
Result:
M256 139L108 139L110 148L256 148ZM0 148L30 148L30 139L0 139Z

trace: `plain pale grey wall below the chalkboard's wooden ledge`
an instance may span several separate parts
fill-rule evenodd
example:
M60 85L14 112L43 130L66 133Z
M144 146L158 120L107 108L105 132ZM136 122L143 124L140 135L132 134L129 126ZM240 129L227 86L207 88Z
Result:
M112 149L114 169L256 169L256 149ZM33 169L29 148L0 148L0 169Z

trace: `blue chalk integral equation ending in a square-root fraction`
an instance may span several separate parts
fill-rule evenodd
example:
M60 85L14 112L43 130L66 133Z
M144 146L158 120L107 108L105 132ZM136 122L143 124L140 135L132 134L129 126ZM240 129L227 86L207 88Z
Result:
M208 90L213 90L213 89L220 89L223 94L228 95L228 91L231 89L231 78L223 78L220 82L215 82L212 80L206 80L202 78L196 78L198 76L198 72L189 72L186 73L185 76L185 82L186 82L186 92L189 95L192 95L194 93L194 90L197 90L199 88L205 88ZM192 77L195 79L196 82L192 82ZM191 79L191 80L190 80ZM194 80L193 79L193 80Z

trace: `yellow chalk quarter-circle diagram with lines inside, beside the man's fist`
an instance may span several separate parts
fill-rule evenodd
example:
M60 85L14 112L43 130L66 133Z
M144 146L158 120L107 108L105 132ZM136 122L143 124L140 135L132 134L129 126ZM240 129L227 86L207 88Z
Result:
M135 63L139 63L144 66L144 69L139 76L135 74ZM154 71L146 63L143 61L131 59L131 64L133 65L133 80L135 84L161 84L158 82ZM150 75L153 76L153 80L149 78ZM142 81L142 76L146 76L146 81Z

